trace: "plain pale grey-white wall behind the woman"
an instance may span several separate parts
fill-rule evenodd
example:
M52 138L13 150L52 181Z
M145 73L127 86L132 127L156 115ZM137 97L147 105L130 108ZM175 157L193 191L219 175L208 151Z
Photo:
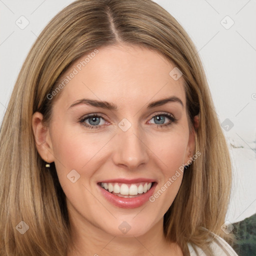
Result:
M202 59L233 160L226 220L239 221L256 212L256 1L155 1L185 28ZM0 121L32 43L71 2L0 0ZM26 19L29 24L21 29Z

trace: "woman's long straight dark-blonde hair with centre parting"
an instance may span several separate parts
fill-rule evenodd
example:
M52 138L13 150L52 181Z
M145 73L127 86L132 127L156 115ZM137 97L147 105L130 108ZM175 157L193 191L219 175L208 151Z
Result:
M45 123L50 119L58 95L49 100L47 94L77 58L118 42L157 50L173 61L183 74L190 123L199 116L195 151L201 155L184 171L177 196L164 214L166 239L177 242L185 255L188 242L212 255L206 243L209 232L224 237L220 226L229 202L231 164L189 36L151 0L77 0L61 10L36 39L2 121L0 256L66 255L70 227L65 195L54 164L45 168L37 153L31 118L39 111ZM21 234L21 227L29 229Z

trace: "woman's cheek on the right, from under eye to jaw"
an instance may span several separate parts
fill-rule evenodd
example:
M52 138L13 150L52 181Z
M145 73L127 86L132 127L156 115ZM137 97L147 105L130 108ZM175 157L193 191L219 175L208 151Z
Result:
M151 144L152 151L158 158L157 167L161 166L161 179L149 198L157 215L163 215L168 210L179 190L188 140L186 134L179 131L160 135L157 139L159 146L153 147Z

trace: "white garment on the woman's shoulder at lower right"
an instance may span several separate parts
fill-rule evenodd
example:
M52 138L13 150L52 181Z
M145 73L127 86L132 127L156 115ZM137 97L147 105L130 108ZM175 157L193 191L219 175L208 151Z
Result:
M212 249L214 256L238 256L236 254L236 252L232 249L232 247L220 236L217 236L214 233L211 233L212 236L215 238L211 244L210 244L210 248ZM189 253L190 256L196 256L196 252L194 251L192 244L188 243L188 249L189 249ZM198 255L200 256L205 256L206 254L202 251L201 248L199 248L196 245L193 245L197 251L198 251Z

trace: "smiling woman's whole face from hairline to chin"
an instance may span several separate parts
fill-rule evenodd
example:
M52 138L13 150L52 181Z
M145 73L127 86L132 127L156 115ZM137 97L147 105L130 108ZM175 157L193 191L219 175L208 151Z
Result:
M94 52L59 80L65 85L37 148L55 163L74 226L142 235L162 221L193 153L182 76L173 79L175 65L146 48Z

